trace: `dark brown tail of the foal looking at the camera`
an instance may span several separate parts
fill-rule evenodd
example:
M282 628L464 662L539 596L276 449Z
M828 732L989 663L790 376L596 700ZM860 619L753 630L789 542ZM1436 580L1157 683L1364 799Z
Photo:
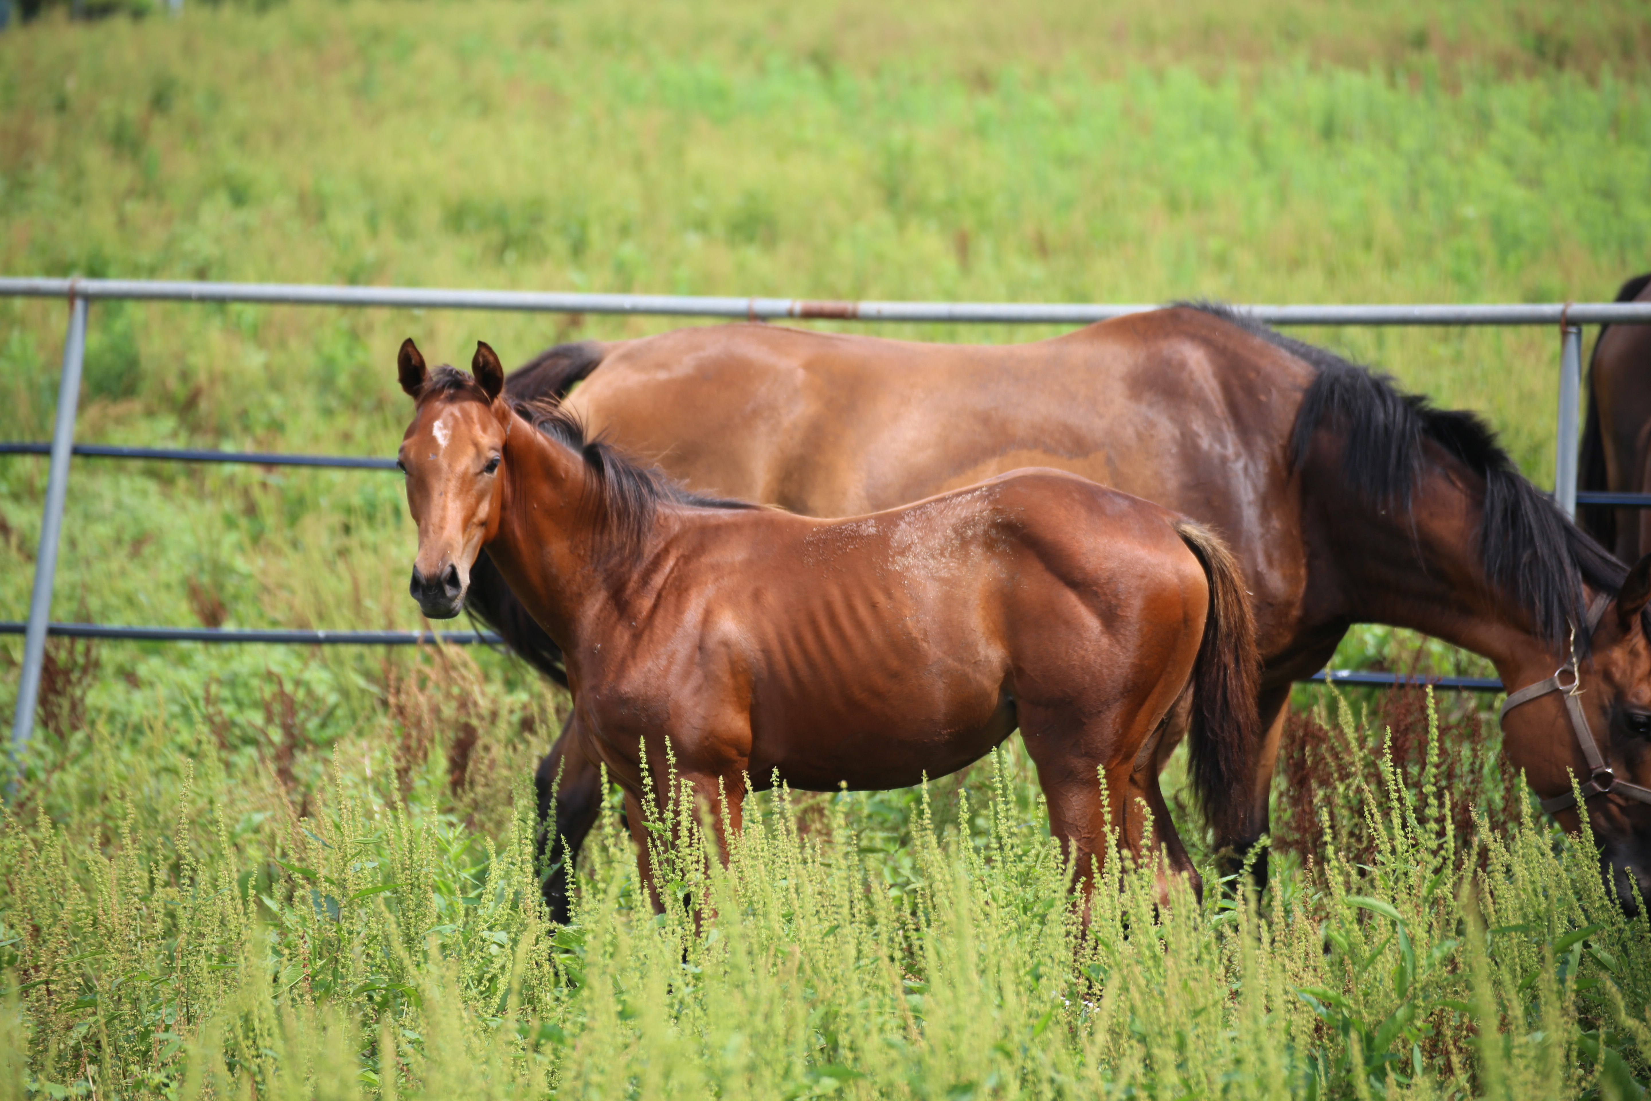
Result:
M1192 787L1217 845L1253 840L1250 804L1255 797L1261 718L1256 710L1261 659L1255 649L1255 616L1238 560L1204 525L1176 523L1176 533L1204 566L1210 612L1192 667L1192 730L1187 753Z

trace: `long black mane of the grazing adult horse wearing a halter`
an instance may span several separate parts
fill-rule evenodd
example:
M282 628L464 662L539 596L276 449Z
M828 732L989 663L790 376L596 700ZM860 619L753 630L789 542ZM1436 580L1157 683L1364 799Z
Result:
M1479 553L1491 584L1522 607L1535 634L1563 652L1572 624L1587 622L1583 584L1616 593L1628 569L1565 518L1532 485L1476 413L1436 409L1425 396L1400 391L1388 375L1334 352L1284 337L1228 305L1184 302L1213 314L1317 368L1296 414L1291 462L1299 469L1321 428L1346 442L1342 475L1362 500L1408 512L1425 469L1425 442L1484 479ZM1588 639L1577 649L1587 654Z

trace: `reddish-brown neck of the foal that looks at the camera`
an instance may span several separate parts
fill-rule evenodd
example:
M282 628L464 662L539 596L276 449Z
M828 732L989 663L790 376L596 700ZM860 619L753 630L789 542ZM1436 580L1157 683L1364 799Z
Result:
M499 527L487 555L528 614L563 650L608 591L603 528L588 502L599 487L584 459L512 413Z

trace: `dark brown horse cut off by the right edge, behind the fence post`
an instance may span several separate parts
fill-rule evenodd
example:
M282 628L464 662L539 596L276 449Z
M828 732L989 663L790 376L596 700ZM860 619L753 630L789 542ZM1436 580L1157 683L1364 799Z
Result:
M1651 302L1651 274L1618 302ZM1580 489L1651 494L1651 325L1605 325L1588 361ZM1651 508L1583 507L1577 522L1623 561L1651 551Z

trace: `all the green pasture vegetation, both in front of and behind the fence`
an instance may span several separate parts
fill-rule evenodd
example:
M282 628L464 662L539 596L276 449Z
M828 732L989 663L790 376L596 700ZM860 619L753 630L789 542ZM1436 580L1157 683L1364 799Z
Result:
M0 271L1455 302L1608 297L1651 266L1643 0L885 7L50 8L0 36ZM0 437L48 436L63 322L0 302ZM669 324L104 304L79 436L390 454L404 335L520 360ZM1550 477L1554 333L1306 335L1484 409ZM5 617L43 484L0 461ZM414 626L411 546L393 475L78 461L56 617ZM1459 660L1385 631L1344 659ZM1382 715L1298 718L1301 858L1260 901L1154 910L1111 870L1081 939L1010 748L926 794L774 799L726 872L687 830L700 926L637 905L609 819L553 929L520 784L565 702L509 659L54 645L48 673L0 834L0 1098L1646 1078L1646 923L1530 819L1471 702L1443 749L1388 705L1390 773Z

